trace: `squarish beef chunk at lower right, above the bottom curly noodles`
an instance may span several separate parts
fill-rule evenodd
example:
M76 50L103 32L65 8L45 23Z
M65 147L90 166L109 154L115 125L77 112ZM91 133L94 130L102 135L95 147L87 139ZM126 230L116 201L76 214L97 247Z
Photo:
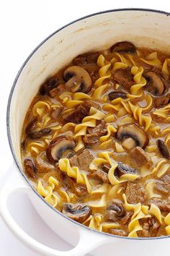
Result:
M146 199L146 192L142 184L128 182L125 195L129 203L137 204L138 202L143 203Z

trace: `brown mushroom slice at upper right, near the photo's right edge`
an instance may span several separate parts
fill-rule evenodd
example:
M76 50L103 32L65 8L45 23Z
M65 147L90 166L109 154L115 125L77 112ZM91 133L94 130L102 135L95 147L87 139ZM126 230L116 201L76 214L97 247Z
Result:
M145 74L147 85L146 89L155 96L161 96L164 93L164 82L161 80L161 77L158 76L155 72L148 72Z

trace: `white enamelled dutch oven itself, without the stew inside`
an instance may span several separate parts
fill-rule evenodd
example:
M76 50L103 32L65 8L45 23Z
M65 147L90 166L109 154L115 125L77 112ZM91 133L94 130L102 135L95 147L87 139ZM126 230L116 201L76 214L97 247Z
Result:
M161 255L169 249L169 237L132 239L119 237L82 226L55 210L37 194L23 174L20 136L25 113L42 82L68 64L74 56L86 51L109 48L120 40L130 40L135 46L169 51L170 16L147 9L117 9L92 14L76 20L40 43L24 62L9 96L7 127L9 144L17 168L1 191L1 216L14 234L40 255ZM26 192L37 213L55 233L73 244L68 252L46 247L32 239L14 222L7 208L7 199L14 191ZM167 255L169 253L167 252Z

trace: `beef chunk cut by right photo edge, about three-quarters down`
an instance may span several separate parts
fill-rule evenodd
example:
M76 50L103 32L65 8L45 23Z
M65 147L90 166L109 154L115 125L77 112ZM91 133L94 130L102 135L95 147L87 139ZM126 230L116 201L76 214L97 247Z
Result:
M158 192L161 192L164 195L169 194L169 192L170 192L170 174L166 174L158 182L156 182L155 188Z

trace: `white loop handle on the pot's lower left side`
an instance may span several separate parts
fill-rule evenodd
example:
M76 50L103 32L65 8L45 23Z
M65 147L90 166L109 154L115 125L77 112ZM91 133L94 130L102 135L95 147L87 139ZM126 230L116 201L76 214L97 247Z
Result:
M95 234L93 231L84 230L84 228L79 229L79 242L76 244L76 247L69 251L58 251L56 249L50 248L40 242L37 242L27 233L25 233L18 224L14 221L11 214L9 213L9 209L7 207L7 201L9 196L13 192L22 192L29 194L32 192L31 187L23 182L23 179L17 171L13 171L12 175L10 175L6 184L0 192L0 213L4 222L9 227L9 229L14 233L17 238L26 244L28 247L35 250L35 252L40 253L40 255L48 255L48 256L83 256L86 253L91 252L92 249L99 247L99 245L105 244L108 242L108 238L103 234ZM56 213L57 214L57 213Z

